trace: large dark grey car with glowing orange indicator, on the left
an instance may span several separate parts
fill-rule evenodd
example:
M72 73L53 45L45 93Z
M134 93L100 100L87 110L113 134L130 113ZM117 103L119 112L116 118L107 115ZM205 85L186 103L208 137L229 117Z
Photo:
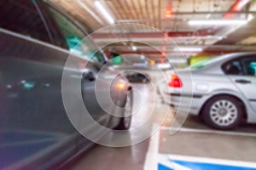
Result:
M88 34L78 21L47 1L30 0L1 1L0 20L0 169L56 169L92 144L73 127L61 98L62 72L72 50L78 64L87 63L86 71L81 65L67 69L73 71L71 77L82 79L90 116L104 127L130 127L131 86L122 76L113 81L111 68L102 72L102 88L96 91L106 91L107 82L122 83L122 89L113 86L109 93L113 103L125 107L119 115L126 117L110 116L97 103L96 77L106 59L101 52L86 57L98 50L90 38L79 49L78 42ZM112 101L104 102L109 106Z

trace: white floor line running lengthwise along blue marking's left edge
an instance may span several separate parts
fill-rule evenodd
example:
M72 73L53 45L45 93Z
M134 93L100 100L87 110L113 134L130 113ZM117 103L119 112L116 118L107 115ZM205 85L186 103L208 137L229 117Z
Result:
M154 123L152 127L152 132L157 129L158 124ZM148 152L145 159L144 170L157 170L158 169L158 150L159 150L159 139L160 139L160 129L154 133L149 140Z

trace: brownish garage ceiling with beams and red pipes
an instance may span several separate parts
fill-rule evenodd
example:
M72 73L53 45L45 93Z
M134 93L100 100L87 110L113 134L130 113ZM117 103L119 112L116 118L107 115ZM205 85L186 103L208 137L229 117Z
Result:
M92 37L101 47L107 46L107 51L114 48L120 54L144 54L150 58L202 53L181 53L177 47L203 48L203 53L213 55L256 51L256 0L98 0L112 16L113 24L96 8L95 0L51 1L81 21L90 32L96 31ZM188 24L189 20L248 17L251 20L244 26ZM114 24L125 25L113 27ZM112 42L118 43L109 45Z

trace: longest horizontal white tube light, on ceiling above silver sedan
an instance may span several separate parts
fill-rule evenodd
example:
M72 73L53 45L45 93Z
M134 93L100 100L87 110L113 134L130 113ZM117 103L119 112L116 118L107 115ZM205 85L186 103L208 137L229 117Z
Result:
M190 26L230 26L245 25L248 20L189 20Z

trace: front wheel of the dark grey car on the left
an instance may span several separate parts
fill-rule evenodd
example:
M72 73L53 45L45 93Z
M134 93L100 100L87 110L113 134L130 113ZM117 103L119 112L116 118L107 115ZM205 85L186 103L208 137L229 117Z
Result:
M119 125L115 127L115 130L128 130L131 127L131 114L132 114L132 102L133 102L132 89L126 94L124 105L124 117L120 118Z

